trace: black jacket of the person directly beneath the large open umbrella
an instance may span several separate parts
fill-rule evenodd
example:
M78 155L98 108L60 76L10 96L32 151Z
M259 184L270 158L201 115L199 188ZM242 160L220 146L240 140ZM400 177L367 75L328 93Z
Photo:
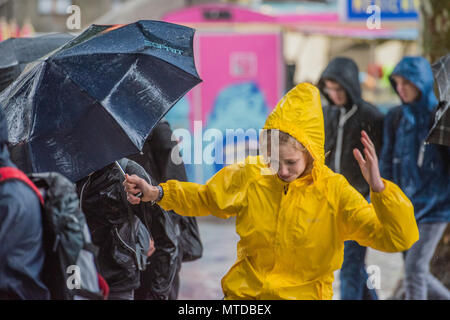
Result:
M150 182L144 169L134 161L120 160L129 175L136 174ZM125 165L124 165L125 164ZM77 193L91 231L92 242L99 248L98 269L111 292L137 289L140 273L135 256L121 245L117 230L130 216L137 216L149 229L150 204L131 205L123 187L124 177L115 164L110 164L77 182ZM125 231L127 235L131 230ZM131 235L130 247L135 248Z

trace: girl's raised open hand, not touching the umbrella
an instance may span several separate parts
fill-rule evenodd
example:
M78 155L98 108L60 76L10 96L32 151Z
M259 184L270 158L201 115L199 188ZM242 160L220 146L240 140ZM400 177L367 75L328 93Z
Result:
M381 180L380 169L378 167L378 158L375 152L375 146L369 135L363 130L361 131L361 142L364 145L364 156L358 149L353 149L353 156L358 161L361 172L374 192L381 192L384 190L384 183Z

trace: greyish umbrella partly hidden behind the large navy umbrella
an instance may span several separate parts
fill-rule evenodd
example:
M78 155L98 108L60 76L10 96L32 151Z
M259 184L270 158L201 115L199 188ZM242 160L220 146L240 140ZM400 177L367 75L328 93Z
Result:
M10 38L0 42L0 91L9 86L26 64L59 48L74 36L52 33L34 38Z

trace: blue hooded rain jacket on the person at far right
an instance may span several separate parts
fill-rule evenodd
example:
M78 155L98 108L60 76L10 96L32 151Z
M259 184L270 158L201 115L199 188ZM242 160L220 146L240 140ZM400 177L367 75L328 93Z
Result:
M412 82L420 90L420 97L387 114L381 174L408 196L417 222L450 221L450 148L424 144L433 122L433 109L438 104L430 64L422 57L404 57L390 77L396 90L392 75Z

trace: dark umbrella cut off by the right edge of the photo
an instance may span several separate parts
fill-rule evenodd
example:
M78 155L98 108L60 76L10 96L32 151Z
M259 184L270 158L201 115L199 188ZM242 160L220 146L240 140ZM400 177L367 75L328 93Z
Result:
M433 127L426 141L450 146L450 53L440 58L431 67L441 101L435 114Z

